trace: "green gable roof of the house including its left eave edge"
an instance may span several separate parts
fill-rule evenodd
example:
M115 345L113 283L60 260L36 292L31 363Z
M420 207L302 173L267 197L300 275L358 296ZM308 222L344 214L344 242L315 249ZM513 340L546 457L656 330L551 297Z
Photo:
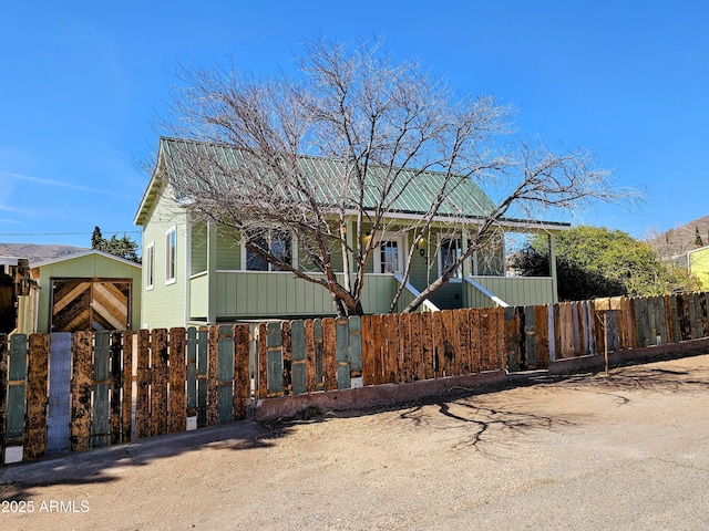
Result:
M141 206L135 215L135 225L143 225L145 222L146 216L162 189L162 184L156 177L158 171L164 169L168 175L182 174L182 176L188 176L188 160L195 156L204 158L205 160L214 160L220 167L227 168L230 171L239 171L247 168L253 169L254 164L254 162L249 159L248 150L246 149L224 144L161 137L157 166L153 171L151 183L145 190ZM302 175L310 179L314 185L317 185L314 186L314 189L319 190L323 201L327 201L328 197L338 197L339 190L337 187L340 186L342 181L341 176L347 171L345 162L301 155L298 157L298 164ZM370 167L368 175L371 175L373 178L372 183L366 186L366 209L373 210L377 204L374 180L377 174L382 176L384 171L387 171L384 167ZM445 179L450 178L441 171L421 171L410 168L398 168L397 171L401 171L403 178L400 179L399 189L392 190L394 195L399 194L399 197L395 198L391 208L388 210L402 217L424 216L431 206L430 198L435 197L444 185ZM410 185L405 186L403 183L410 183ZM470 220L482 219L494 208L494 204L490 197L469 177L454 176L446 186L450 186L452 189L446 199L441 204L436 216L438 218L461 217ZM352 191L354 192L354 190ZM352 205L352 207L354 207L354 205ZM512 219L505 221L507 222L505 225L540 223L538 221ZM568 227L568 223L557 222L543 222L542 225L554 226L555 228Z

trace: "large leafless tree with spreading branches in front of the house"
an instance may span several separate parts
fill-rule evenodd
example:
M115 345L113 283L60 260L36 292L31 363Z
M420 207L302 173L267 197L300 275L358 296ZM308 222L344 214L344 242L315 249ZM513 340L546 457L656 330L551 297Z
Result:
M394 62L379 42L348 48L316 40L304 49L295 75L261 80L234 65L183 70L166 123L198 142L174 154L179 168L168 173L169 185L195 216L230 229L254 256L328 289L340 315L362 313L368 263L394 226L407 223L411 238L392 310L417 242L433 226L470 231L471 218L476 223L458 259L409 304L412 311L505 216L628 197L614 191L587 150L504 144L510 106L490 95L459 96L415 62ZM494 201L472 197L472 181L503 191ZM427 201L413 220L403 216L412 194ZM265 230L276 229L296 236L310 268L269 244Z

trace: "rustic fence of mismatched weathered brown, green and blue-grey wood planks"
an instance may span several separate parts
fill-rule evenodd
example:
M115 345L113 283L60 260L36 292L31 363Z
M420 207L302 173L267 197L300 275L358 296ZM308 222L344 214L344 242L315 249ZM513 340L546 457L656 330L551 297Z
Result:
M705 293L0 335L0 464L226 424L271 397L544 368L606 341L615 351L706 336Z

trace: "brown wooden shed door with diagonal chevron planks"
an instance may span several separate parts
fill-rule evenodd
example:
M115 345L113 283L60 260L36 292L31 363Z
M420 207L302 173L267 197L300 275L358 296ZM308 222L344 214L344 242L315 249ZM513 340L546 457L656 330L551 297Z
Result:
M52 279L51 331L127 330L130 279Z

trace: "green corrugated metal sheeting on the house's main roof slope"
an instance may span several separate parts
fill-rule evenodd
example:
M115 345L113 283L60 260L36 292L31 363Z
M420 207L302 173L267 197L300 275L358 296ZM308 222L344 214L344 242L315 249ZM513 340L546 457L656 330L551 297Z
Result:
M220 144L208 144L178 138L161 138L161 150L171 173L189 171L196 160L217 163L220 167L233 171L249 170L258 173L258 160L249 159L248 152ZM342 194L342 186L348 186L346 176L348 166L345 162L311 156L298 157L300 174L307 178L311 187L319 190L323 202L337 201L342 197L356 197L356 186L349 184L350 190ZM395 168L400 177L389 197L395 197L387 210L411 215L424 215L432 200L445 184L446 175L439 171L420 171L408 168ZM267 171L267 169L263 169ZM371 167L364 187L364 209L373 209L379 202L379 186L387 177L388 168ZM450 194L439 208L439 216L463 216L466 218L484 217L494 207L483 190L467 177L453 177L446 185ZM353 202L347 207L356 207Z

